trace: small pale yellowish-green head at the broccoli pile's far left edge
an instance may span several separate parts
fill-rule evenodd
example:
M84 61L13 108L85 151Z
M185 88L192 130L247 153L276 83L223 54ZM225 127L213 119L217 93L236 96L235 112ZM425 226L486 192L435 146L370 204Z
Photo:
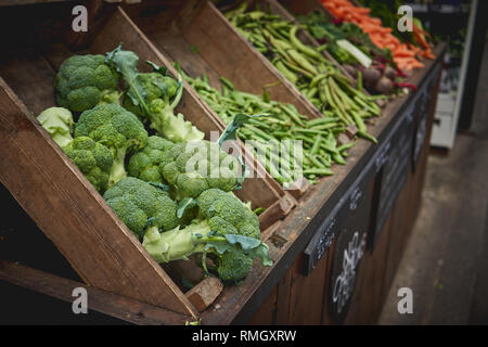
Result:
M73 141L72 132L75 121L69 110L63 107L50 107L37 116L42 128L48 131L51 138L60 147Z

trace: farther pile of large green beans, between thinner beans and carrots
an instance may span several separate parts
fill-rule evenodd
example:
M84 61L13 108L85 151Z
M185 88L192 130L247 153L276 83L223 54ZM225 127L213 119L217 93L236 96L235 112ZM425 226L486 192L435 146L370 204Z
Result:
M356 125L358 134L376 143L368 133L364 119L380 116L375 100L362 92L326 60L323 48L313 48L297 38L299 26L279 15L261 11L245 12L247 2L226 13L228 20L261 52L282 75L323 114L332 113L344 126Z

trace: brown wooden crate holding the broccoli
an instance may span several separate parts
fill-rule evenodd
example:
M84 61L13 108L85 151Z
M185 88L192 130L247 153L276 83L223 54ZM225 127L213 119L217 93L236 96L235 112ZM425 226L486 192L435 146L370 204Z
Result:
M55 72L75 52L104 54L124 42L141 62L169 65L121 9L95 0L86 5L86 34L70 30L69 3L5 8L0 14L5 48L0 56L0 181L86 283L196 319L198 311L185 294L35 119L55 105ZM206 134L222 130L190 89L177 112ZM271 211L260 216L261 224L293 206L258 180L246 182L241 197L249 190L253 204Z

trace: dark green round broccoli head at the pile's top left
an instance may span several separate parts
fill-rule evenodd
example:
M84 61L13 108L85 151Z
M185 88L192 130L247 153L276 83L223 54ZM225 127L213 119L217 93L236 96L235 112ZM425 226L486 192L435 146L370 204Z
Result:
M54 80L57 104L82 112L101 103L118 103L118 76L104 61L101 54L65 60Z

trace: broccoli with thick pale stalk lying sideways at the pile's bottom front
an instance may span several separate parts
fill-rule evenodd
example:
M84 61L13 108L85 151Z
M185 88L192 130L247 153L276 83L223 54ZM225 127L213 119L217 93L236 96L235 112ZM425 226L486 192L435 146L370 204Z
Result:
M209 255L223 281L243 280L261 257L271 265L268 246L259 241L257 216L233 194L209 189L197 198L201 217L185 228L159 233L147 230L143 246L158 262L187 259L195 253ZM232 213L231 213L232 210ZM204 265L205 266L205 265Z

